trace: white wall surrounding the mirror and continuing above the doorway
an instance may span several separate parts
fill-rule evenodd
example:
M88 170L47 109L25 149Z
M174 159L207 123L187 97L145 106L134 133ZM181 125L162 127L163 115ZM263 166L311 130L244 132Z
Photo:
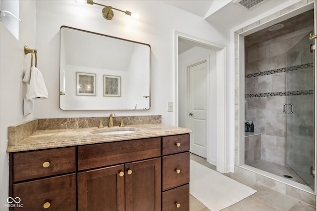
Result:
M152 48L151 103L148 111L114 111L124 115L162 115L162 122L174 125L174 113L167 101L174 101L174 30L211 42L228 44L228 39L196 15L156 1L100 1L140 15L138 20L114 11L111 21L101 15L98 5L77 4L74 0L37 1L36 46L38 68L42 71L49 99L36 101L36 118L108 116L113 111L62 111L59 109L59 28L67 25L128 40L144 42ZM131 21L128 23L128 21ZM129 25L130 24L130 25ZM49 27L48 27L49 26Z

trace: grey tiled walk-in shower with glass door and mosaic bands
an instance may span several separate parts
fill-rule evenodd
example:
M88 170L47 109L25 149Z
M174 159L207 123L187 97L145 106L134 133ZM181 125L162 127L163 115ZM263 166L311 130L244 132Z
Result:
M245 164L314 189L314 10L271 29L245 37Z

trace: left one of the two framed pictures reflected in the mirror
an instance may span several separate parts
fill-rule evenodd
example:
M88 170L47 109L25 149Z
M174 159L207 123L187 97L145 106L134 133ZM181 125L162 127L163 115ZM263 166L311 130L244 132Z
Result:
M96 74L76 72L76 95L96 96Z

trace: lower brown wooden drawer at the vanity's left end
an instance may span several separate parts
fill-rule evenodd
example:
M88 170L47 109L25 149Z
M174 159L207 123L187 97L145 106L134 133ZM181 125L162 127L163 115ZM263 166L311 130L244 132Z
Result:
M17 211L75 211L75 173L13 184L16 197L21 199L14 208Z

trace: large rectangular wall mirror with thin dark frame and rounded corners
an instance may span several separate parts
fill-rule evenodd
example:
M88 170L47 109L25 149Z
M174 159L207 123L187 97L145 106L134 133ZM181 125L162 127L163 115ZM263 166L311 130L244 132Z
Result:
M62 110L148 110L149 44L60 28Z

